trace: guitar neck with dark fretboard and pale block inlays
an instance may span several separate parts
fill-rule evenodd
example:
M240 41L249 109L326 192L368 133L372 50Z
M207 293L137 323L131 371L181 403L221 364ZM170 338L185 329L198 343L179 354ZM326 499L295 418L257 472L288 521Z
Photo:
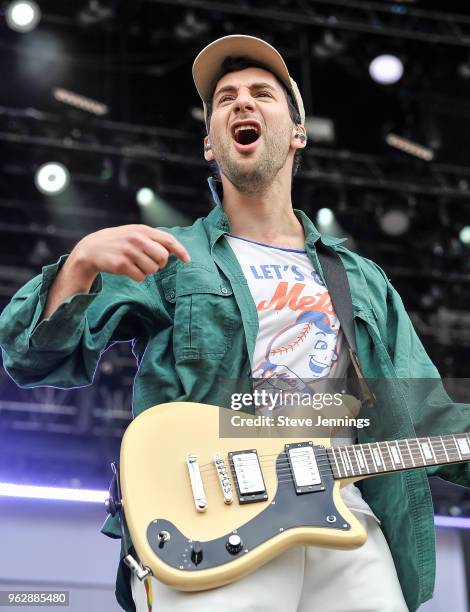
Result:
M470 434L448 434L334 446L327 455L335 479L470 461Z

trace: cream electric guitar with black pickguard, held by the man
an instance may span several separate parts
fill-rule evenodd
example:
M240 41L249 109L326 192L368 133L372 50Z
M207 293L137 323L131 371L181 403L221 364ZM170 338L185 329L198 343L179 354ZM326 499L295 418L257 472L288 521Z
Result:
M470 434L332 447L329 438L221 438L219 406L145 410L125 432L122 508L141 564L183 591L233 582L293 545L355 548L367 534L340 487L470 460Z

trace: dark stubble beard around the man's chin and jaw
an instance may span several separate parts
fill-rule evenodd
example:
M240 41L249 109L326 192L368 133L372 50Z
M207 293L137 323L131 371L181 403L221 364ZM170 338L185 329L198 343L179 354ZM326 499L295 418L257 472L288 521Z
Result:
M251 195L265 191L286 163L291 129L289 126L283 133L261 136L264 139L264 143L258 145L261 151L249 154L255 159L248 162L240 159L241 154L230 140L212 137L212 149L220 171L240 193Z

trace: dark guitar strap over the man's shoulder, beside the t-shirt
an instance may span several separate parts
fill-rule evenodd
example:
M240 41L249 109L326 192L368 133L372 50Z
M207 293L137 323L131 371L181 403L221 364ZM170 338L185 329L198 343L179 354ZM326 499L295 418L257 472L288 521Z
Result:
M340 256L333 248L324 245L320 240L317 241L315 247L333 307L338 316L344 337L349 345L349 355L363 394L363 401L368 406L372 406L375 403L375 397L367 385L357 356L351 290L346 270Z

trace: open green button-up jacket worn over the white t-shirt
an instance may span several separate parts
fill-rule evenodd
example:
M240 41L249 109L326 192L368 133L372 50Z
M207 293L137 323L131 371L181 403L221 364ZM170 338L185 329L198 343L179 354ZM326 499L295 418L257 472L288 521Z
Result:
M191 255L174 256L139 283L101 274L90 293L67 299L38 324L49 287L65 260L46 266L22 287L0 316L4 367L22 387L89 385L102 351L113 341L132 340L138 362L133 413L169 401L218 404L220 381L249 384L258 314L238 261L222 236L229 231L215 183L214 209L190 227L161 228ZM315 244L340 255L348 275L358 356L377 397L373 425L358 430L359 442L470 430L470 406L453 403L416 335L403 303L384 272L322 236L300 210L305 248L322 275ZM411 379L426 384L414 385ZM431 598L435 575L434 516L428 475L470 486L469 464L416 469L366 479L365 500L382 522L410 610ZM120 537L108 518L102 531ZM119 564L116 594L133 610L128 573Z

